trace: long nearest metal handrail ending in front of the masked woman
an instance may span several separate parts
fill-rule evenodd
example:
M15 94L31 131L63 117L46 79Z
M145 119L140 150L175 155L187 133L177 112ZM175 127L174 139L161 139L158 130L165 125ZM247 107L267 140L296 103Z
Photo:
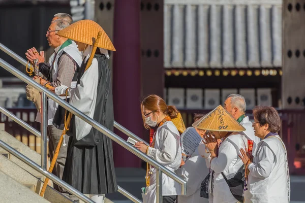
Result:
M3 46L2 44L0 44L0 45L1 45L0 49L3 50L3 47L5 47L5 46ZM9 52L11 52L11 53L9 54ZM8 48L6 48L6 53L8 53L9 55L11 55L11 54L14 55L15 54L14 52L9 50ZM14 58L19 61L18 57L14 57ZM22 59L22 60L24 60L24 59ZM36 82L34 82L33 80L31 80L28 77L26 77L23 73L21 73L20 71L16 70L12 65L10 65L9 63L7 63L6 61L4 61L1 58L0 58L0 66L4 67L4 69L6 69L11 74L15 75L17 78L19 78L23 82L33 86L34 88L38 89L41 92L44 92L49 98L51 98L54 101L56 101L60 106L62 106L65 109L69 110L75 116L78 116L79 118L84 120L86 123L92 125L94 128L96 128L97 130L99 130L100 132L105 134L107 137L109 137L114 142L118 143L119 145L121 145L122 147L127 149L128 151L130 151L133 154L135 154L136 156L140 157L142 160L144 160L144 161L148 162L150 165L154 166L157 169L157 179L159 177L162 177L162 173L165 173L167 176L169 176L170 178L172 178L173 180L175 180L176 182L178 182L181 185L181 194L182 195L187 194L187 182L184 179L182 179L179 176L177 176L175 173L173 173L170 170L168 170L168 168L166 168L165 166L161 165L156 160L148 157L146 154L144 154L144 153L140 152L139 150L135 149L134 147L132 147L132 145L127 143L124 139L120 138L115 133L113 133L112 131L110 131L109 129L107 129L106 127L104 127L103 125L98 123L97 121L95 121L92 118L84 115L82 112L80 112L79 110L77 110L76 108L74 108L73 106L68 104L66 101L64 101L63 99L59 98L56 94L46 90L41 85L38 85ZM160 170L158 170L159 168L160 168ZM157 181L157 182L159 183L159 181ZM162 188L162 184L157 184L157 197L158 197L157 198L157 202L160 202L159 201L159 199L160 199L159 198L160 197L159 192L162 193L162 189L160 191L160 188Z

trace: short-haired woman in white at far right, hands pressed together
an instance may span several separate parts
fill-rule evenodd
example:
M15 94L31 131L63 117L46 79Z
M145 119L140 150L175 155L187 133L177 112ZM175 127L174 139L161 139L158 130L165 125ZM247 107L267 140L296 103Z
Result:
M289 202L290 178L286 147L278 131L281 119L275 108L253 110L254 133L262 139L255 154L240 149L246 167L245 202Z

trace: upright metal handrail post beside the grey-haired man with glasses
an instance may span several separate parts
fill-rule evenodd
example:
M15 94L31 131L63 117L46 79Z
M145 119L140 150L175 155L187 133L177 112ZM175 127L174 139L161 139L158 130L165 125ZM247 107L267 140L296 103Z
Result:
M47 170L47 126L48 126L48 114L47 114L47 96L45 92L41 92L41 167L44 171Z

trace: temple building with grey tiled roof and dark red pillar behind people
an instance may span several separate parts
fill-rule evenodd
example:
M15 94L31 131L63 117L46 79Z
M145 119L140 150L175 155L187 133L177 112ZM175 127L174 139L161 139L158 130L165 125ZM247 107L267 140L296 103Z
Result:
M175 105L190 126L194 113L207 113L227 95L239 93L246 98L248 115L255 106L279 110L291 171L305 174L303 2L0 0L0 43L22 57L34 46L45 50L48 58L53 49L45 33L52 16L60 12L70 13L75 21L93 19L108 33L117 50L110 52L109 60L115 120L139 137L147 140L149 135L140 115L140 101L148 94ZM5 53L0 52L0 58L25 73ZM0 106L38 126L25 84L3 69L0 77ZM37 141L33 142L35 148ZM24 143L29 145L29 139ZM141 167L133 154L118 145L114 149L117 167Z

